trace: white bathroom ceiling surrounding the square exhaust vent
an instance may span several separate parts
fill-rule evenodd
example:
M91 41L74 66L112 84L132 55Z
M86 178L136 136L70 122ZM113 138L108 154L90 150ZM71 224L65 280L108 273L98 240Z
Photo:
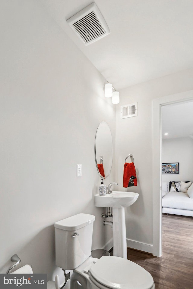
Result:
M110 34L88 46L66 20L92 0L40 0L116 90L193 67L192 0L95 0Z

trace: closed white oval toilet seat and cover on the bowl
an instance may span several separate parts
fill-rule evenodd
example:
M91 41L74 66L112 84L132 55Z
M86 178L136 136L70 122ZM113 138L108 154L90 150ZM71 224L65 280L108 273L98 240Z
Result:
M89 270L90 280L101 289L153 289L149 272L138 264L116 256L102 256Z

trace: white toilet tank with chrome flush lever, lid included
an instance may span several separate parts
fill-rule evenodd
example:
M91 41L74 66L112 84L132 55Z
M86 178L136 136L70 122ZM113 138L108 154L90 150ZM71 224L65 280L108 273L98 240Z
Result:
M94 220L81 213L54 224L56 266L73 270L90 256Z

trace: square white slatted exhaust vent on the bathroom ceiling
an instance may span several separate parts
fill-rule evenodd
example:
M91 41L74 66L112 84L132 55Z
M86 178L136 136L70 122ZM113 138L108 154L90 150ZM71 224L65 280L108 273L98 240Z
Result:
M102 14L95 3L67 20L85 45L89 45L110 33Z

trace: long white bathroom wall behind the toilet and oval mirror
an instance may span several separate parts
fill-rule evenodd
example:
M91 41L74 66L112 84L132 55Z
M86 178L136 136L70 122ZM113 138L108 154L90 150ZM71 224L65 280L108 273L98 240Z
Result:
M94 205L100 185L94 141L103 120L115 145L115 106L104 98L103 76L37 1L2 0L0 6L0 273L17 253L21 266L32 264L49 280L54 222L93 214L92 249L112 238L103 209ZM105 184L113 181L114 162Z

